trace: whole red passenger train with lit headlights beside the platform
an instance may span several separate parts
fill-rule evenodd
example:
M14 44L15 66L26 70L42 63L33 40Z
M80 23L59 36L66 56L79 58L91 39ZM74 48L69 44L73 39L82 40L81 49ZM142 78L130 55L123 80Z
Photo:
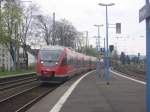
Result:
M96 58L62 46L47 46L39 50L37 75L41 82L59 83L74 74L95 69Z

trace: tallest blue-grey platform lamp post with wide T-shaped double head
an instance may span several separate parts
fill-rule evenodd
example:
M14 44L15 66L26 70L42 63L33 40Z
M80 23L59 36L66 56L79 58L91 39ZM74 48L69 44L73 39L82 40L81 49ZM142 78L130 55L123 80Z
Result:
M107 85L109 85L109 49L108 49L108 6L113 6L115 5L114 3L109 3L109 4L105 4L105 3L99 3L98 5L100 6L105 6L106 7L106 66L105 66L105 79L107 81Z

